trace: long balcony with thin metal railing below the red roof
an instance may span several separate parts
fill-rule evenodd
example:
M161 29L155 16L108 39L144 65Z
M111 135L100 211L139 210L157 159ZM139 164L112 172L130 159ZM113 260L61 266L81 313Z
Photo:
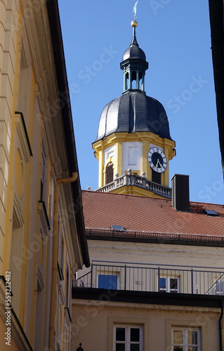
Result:
M73 288L224 295L224 270L212 267L93 261Z

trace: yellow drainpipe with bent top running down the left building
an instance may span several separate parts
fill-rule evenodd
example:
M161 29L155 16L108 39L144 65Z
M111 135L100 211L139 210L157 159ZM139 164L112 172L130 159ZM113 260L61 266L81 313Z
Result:
M58 194L59 184L73 183L77 180L78 173L72 173L71 178L61 178L56 180L54 207L53 207L53 253L52 253L52 274L51 274L51 310L50 310L50 327L49 327L49 350L54 350L54 327L55 327L55 310L57 303L57 274L58 274Z

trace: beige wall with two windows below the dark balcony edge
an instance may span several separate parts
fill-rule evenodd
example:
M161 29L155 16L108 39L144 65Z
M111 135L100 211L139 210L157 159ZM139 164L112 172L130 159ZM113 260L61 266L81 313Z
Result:
M197 327L203 351L219 350L219 309L110 302L109 294L99 300L72 300L72 350L112 351L114 323L143 325L143 351L171 351L171 326ZM105 301L103 301L106 300Z

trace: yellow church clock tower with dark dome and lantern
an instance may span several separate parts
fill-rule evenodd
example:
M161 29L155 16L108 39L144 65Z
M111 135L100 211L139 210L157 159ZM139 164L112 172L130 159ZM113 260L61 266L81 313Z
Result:
M98 190L171 198L169 161L176 155L162 104L145 93L148 62L133 37L120 64L124 91L103 109L93 143L99 161Z

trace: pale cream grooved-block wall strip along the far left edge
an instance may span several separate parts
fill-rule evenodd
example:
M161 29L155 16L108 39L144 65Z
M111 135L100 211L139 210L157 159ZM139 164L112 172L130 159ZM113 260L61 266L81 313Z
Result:
M16 73L18 0L0 1L0 272L3 269L10 146L13 121L13 89Z

